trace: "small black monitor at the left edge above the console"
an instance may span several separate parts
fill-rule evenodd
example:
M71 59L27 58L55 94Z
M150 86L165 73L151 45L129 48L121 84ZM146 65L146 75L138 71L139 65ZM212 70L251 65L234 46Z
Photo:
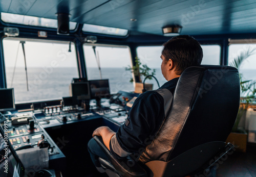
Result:
M12 111L12 110L15 110L13 88L0 89L0 111Z

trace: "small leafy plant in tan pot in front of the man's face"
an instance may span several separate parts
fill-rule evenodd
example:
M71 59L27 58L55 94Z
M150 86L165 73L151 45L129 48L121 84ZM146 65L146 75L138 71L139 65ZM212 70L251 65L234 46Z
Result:
M143 77L146 77L147 75L155 75L156 70L149 68L146 64L141 64L140 59L138 57L135 58L135 65L129 66L125 68L126 71L131 71L134 73L135 77L139 77L139 82L135 83L135 92L136 93L142 93L143 89ZM152 80L152 77L148 77L149 80ZM131 78L130 82L134 82L134 79ZM146 90L152 90L153 84L145 83Z

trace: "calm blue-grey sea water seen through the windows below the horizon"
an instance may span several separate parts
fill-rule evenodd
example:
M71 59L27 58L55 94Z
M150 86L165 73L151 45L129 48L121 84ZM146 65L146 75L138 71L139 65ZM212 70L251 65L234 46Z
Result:
M7 88L14 88L16 103L69 96L69 85L73 78L78 78L77 68L54 68L48 71L43 68L28 68L29 90L27 90L25 68L16 68L15 72L13 71L14 68L6 68ZM124 67L101 68L101 72L102 79L109 79L111 93L116 93L119 90L134 91L134 85L130 82L132 74ZM245 79L256 81L256 70L241 70L241 73ZM89 80L100 79L98 68L88 68L87 75ZM160 68L156 68L155 77L160 86L166 82ZM153 89L159 88L154 79L147 79L146 83L153 83Z

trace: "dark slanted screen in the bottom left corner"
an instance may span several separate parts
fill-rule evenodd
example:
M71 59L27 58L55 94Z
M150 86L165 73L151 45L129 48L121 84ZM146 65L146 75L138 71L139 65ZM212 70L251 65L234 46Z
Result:
M9 142L7 135L0 126L0 176L24 176L25 168Z

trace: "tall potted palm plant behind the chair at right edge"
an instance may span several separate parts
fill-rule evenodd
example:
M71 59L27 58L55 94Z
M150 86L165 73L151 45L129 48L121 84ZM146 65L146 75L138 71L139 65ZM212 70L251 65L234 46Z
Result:
M241 64L251 55L254 54L256 48L248 48L241 52L234 60L230 63L230 66L240 69ZM250 104L256 98L256 82L252 80L245 80L243 74L239 73L240 86L241 86L241 97L240 107L237 115L237 119L234 122L232 132L228 136L226 142L231 142L239 151L246 151L247 145L247 132L245 131L245 116L246 111Z

